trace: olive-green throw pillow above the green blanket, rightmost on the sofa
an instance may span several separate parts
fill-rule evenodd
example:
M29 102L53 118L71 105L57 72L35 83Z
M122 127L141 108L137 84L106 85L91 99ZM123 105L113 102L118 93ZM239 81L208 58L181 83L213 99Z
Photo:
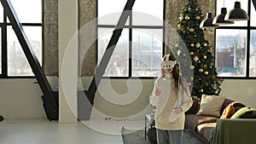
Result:
M253 118L253 111L250 107L242 107L230 119L234 118Z

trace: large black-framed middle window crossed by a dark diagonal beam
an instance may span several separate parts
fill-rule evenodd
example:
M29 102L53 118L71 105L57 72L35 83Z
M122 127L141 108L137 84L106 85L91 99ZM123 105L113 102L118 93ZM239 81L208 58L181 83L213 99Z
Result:
M97 0L97 61L107 48L127 0ZM136 0L103 77L159 76L163 53L164 0Z

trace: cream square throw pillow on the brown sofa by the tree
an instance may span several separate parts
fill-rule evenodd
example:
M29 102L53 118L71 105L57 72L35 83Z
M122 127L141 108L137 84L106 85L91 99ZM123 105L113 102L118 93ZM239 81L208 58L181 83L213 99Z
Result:
M220 108L224 103L224 99L224 96L219 95L202 95L200 109L196 115L220 117Z

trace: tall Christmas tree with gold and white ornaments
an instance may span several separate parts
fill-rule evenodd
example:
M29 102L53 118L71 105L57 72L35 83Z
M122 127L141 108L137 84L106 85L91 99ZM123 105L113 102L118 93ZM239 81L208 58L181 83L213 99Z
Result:
M202 94L218 95L223 82L223 79L217 77L214 56L210 51L212 46L204 37L206 30L199 27L201 20L203 16L197 1L189 0L177 20L177 33L183 42L177 40L172 47L179 65L193 71L193 75L186 79L191 84L194 98L201 98ZM181 69L182 73L188 71L186 68Z

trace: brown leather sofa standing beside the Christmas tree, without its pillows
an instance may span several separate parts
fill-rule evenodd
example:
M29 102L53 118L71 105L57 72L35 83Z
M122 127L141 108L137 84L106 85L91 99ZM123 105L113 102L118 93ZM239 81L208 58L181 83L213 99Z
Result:
M225 99L220 113L223 113L225 107L227 107L232 102L236 101ZM241 107L246 107L244 104L238 101L236 102L235 106L236 111ZM212 130L215 128L217 119L219 117L196 115L199 108L200 102L194 101L193 106L189 109L188 112L186 112L185 127L186 129L191 130L196 136L198 136L201 141L208 143Z

